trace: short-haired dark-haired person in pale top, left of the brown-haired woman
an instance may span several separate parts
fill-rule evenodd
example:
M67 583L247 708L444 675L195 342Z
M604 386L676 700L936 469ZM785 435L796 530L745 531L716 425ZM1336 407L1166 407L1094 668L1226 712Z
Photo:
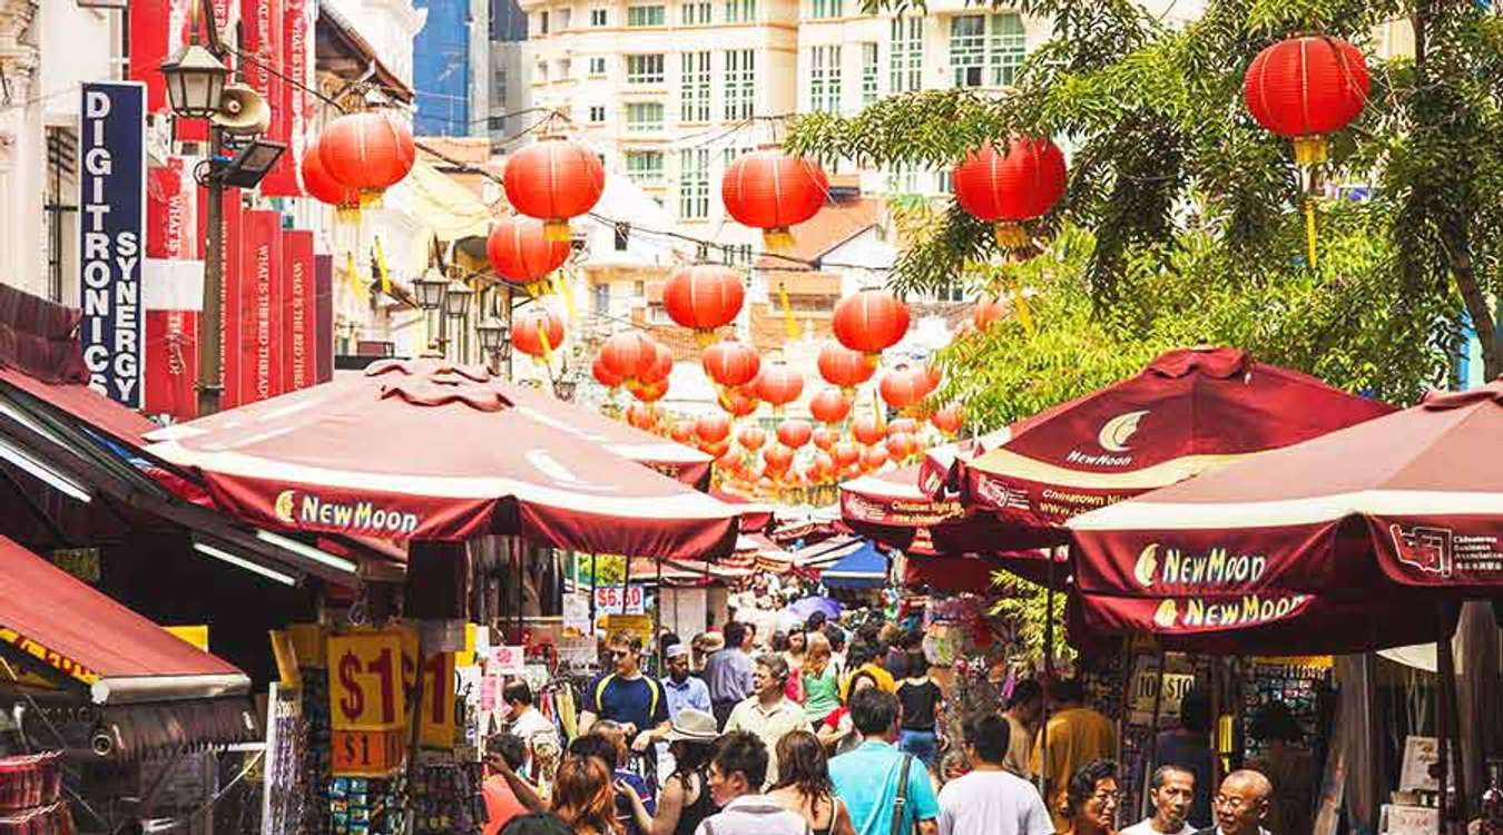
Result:
M807 835L804 817L762 794L767 746L756 734L732 731L715 743L705 775L709 799L720 806L699 823L694 835Z

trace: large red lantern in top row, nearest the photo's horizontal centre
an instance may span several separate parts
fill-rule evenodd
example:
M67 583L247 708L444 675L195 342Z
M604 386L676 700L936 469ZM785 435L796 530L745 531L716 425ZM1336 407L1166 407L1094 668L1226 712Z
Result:
M791 227L813 218L830 194L830 179L812 159L780 150L736 158L720 180L720 200L738 224L762 230L768 249L792 245Z

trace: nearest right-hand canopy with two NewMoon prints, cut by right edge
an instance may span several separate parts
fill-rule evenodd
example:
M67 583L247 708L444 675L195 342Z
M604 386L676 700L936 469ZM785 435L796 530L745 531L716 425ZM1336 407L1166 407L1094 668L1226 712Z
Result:
M1500 445L1495 381L1081 515L1082 614L1162 635L1279 622L1359 649L1434 640L1435 602L1503 590Z

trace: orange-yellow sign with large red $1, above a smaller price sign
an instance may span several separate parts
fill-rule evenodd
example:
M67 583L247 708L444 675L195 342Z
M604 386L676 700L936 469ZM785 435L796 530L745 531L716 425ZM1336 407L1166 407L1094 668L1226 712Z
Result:
M329 637L329 716L334 730L400 728L407 716L401 638L395 632Z

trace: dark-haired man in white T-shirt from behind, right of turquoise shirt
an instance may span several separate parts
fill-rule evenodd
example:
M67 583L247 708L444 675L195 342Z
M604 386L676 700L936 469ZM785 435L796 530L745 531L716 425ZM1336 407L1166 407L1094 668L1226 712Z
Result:
M1003 764L1010 734L1007 719L995 713L966 722L972 769L939 790L939 835L1054 835L1039 790Z

